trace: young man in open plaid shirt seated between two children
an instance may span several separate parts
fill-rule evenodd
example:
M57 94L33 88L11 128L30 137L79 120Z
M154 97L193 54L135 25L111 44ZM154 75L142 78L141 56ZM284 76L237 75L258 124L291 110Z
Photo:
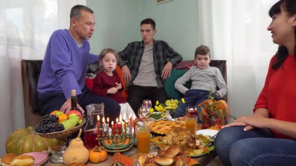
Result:
M165 41L154 40L155 22L151 18L141 21L142 41L131 42L118 52L119 65L127 83L129 105L136 115L141 103L150 99L166 101L164 80L170 76L173 66L182 61L182 56Z

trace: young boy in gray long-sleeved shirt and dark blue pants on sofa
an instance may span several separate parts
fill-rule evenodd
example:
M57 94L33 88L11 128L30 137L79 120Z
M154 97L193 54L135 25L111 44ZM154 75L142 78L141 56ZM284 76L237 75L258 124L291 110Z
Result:
M185 94L185 103L181 103L176 109L176 117L185 116L186 107L197 106L206 100L210 90L215 92L212 94L215 100L222 98L228 91L219 68L209 66L211 56L207 46L201 45L195 50L194 61L196 66L191 66L175 83L175 88ZM190 89L184 86L189 80L192 82Z

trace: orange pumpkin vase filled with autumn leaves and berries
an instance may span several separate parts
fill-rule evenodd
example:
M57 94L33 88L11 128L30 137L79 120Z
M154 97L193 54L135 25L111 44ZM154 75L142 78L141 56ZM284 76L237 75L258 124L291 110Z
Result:
M215 125L221 128L221 126L225 124L225 120L228 118L236 119L229 114L229 108L226 101L214 100L214 97L211 96L213 93L212 89L210 89L208 99L197 106L202 110L203 128Z

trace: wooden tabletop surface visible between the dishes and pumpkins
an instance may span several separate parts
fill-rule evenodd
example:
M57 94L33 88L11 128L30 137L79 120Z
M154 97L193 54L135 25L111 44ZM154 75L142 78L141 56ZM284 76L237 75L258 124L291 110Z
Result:
M150 144L150 153L152 152L157 152L159 148L154 146L153 144ZM129 156L130 158L132 158L134 160L134 166L137 165L135 157L138 153L138 150L136 147L133 147L131 149L129 149L129 151L125 151L122 152L122 154ZM110 166L111 165L111 161L112 161L112 157L113 157L114 153L110 153L108 152L108 158L106 161L101 162L101 163L97 163L97 164L93 164L91 162L88 162L86 165L87 166ZM206 166L207 164L209 164L212 160L214 160L214 158L217 156L217 153L215 150L212 150L209 154L205 154L203 156L200 157L194 157L193 159L198 161L199 163L202 164L202 166ZM59 166L60 164L52 164L49 161L44 164L44 166ZM199 165L200 166L200 165Z

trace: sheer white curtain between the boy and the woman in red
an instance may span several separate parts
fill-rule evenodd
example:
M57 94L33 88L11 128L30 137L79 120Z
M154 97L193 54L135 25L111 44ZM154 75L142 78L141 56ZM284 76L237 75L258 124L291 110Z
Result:
M227 60L228 104L239 117L253 114L268 64L277 51L267 31L278 0L199 0L199 44L212 59Z

